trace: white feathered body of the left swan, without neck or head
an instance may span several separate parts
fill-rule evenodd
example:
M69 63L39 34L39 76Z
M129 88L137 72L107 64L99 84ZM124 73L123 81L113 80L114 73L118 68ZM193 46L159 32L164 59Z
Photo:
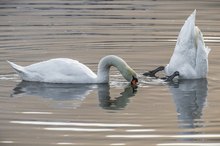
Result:
M17 66L18 65L12 67L18 72L19 76L26 81L92 83L96 78L96 74L87 66L68 58L51 59L26 67L19 66L18 68Z

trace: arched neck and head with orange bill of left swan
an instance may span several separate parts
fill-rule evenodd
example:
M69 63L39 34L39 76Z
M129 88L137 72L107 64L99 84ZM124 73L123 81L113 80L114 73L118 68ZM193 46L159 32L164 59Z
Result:
M98 65L98 82L107 83L109 81L109 70L111 66L116 67L122 76L132 85L137 84L136 72L123 59L115 55L108 55L100 60Z

